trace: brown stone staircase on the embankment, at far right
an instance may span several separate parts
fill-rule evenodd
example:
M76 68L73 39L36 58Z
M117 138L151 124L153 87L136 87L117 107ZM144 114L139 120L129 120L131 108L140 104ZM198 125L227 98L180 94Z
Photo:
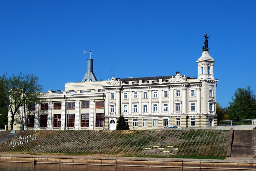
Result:
M253 131L235 130L231 145L231 157L253 157Z

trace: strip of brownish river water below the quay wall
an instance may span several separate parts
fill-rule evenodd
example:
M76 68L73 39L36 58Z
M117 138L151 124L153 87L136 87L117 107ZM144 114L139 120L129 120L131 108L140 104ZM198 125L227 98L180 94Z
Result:
M165 171L158 167L131 167L131 166L97 166L97 165L70 165L47 163L18 163L0 162L0 171ZM167 170L180 171L181 168ZM184 169L183 169L184 170ZM191 170L191 169L189 169Z

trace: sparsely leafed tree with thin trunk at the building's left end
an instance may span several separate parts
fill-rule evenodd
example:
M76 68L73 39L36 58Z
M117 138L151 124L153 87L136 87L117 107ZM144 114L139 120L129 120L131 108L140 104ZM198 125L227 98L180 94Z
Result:
M39 98L42 93L42 86L38 84L38 77L33 74L13 74L8 77L3 74L0 77L0 98L9 107L11 112L11 130L13 129L14 116L19 113L21 106L32 103Z

